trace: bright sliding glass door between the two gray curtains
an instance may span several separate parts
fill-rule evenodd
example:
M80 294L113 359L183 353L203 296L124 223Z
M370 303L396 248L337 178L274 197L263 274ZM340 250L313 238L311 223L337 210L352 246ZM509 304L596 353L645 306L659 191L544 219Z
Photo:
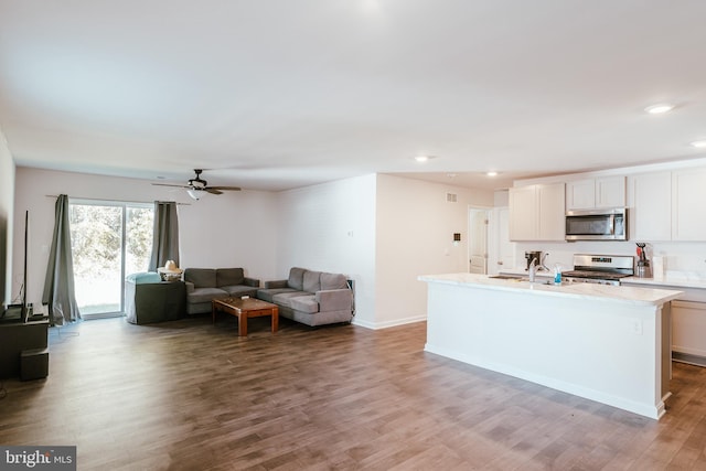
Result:
M153 207L71 201L76 302L84 319L122 315L126 275L148 269Z

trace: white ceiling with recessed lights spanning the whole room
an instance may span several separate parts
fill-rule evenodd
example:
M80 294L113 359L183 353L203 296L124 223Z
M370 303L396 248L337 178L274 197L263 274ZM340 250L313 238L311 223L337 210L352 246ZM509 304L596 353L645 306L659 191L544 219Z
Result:
M19 165L263 190L704 157L705 18L703 0L0 0L0 127ZM660 101L676 108L643 111Z

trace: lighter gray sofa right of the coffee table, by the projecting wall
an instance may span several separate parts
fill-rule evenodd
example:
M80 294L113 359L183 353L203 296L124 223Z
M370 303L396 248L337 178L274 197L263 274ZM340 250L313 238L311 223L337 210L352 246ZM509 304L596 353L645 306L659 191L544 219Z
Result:
M307 325L351 322L353 291L345 275L293 267L286 280L266 281L257 298L279 307L279 315Z

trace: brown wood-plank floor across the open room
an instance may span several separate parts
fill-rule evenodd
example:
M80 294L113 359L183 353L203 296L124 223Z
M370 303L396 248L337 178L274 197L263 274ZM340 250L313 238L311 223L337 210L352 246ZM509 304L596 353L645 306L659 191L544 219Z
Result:
M704 470L706 368L657 421L422 351L426 324L124 319L52 329L50 376L4 382L0 443L79 470Z

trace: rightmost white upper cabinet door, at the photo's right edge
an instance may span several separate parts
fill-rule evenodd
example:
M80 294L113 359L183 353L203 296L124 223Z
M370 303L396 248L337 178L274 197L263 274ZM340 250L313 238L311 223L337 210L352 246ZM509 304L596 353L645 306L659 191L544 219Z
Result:
M706 240L706 169L672 172L672 239Z

